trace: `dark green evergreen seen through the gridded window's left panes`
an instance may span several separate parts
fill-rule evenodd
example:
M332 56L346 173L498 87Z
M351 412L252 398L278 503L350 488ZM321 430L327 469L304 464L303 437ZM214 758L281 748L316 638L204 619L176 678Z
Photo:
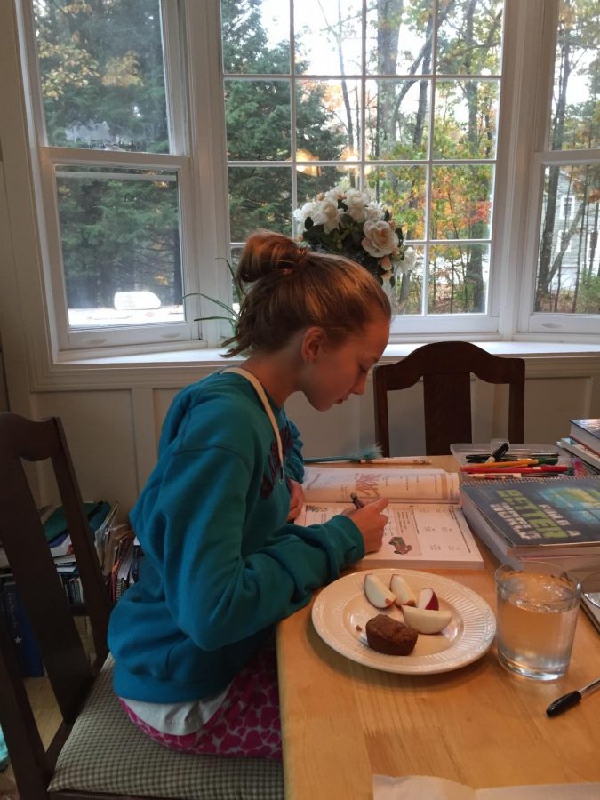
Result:
M221 4L225 109L228 148L229 216L234 241L243 241L256 228L291 234L292 183L289 167L269 162L289 161L291 151L290 69L287 42L268 44L260 16L262 0L223 0ZM297 67L304 65L297 59ZM281 79L244 79L244 74L282 75ZM327 108L321 84L305 82L295 98L298 148L337 160L346 143ZM238 161L258 161L236 166ZM299 173L299 200L331 188L329 172Z

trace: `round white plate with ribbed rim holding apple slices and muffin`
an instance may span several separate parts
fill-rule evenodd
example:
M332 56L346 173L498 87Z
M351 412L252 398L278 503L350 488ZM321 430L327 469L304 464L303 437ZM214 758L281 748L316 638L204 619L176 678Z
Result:
M371 570L389 585L393 574L403 575L412 590L431 587L440 608L452 611L452 622L439 634L420 634L408 656L391 656L371 650L361 642L367 620L379 613L403 621L402 612L375 608L364 595L365 572L353 572L335 580L316 597L313 625L333 650L365 667L403 675L449 672L480 658L492 644L496 618L482 597L455 580L417 570Z

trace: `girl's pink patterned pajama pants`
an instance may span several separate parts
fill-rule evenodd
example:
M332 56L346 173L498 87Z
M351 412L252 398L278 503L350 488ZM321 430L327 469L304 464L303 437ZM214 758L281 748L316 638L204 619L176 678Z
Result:
M252 756L281 761L277 660L273 646L260 650L236 675L220 708L200 731L184 736L157 731L121 700L141 731L180 753Z

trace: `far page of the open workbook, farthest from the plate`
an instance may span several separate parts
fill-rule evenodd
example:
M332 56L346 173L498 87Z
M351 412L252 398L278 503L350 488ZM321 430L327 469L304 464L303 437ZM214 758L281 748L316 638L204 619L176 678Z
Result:
M459 476L444 469L307 467L304 493L308 502L349 503L350 493L361 500L387 497L390 501L458 503Z

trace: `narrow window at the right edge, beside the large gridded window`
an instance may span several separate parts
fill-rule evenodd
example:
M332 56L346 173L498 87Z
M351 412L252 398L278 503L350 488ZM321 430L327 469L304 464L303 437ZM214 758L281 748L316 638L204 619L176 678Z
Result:
M549 24L547 22L547 27ZM537 276L531 331L597 332L600 314L600 4L559 0L551 106L544 145ZM562 212L562 213L561 213Z

